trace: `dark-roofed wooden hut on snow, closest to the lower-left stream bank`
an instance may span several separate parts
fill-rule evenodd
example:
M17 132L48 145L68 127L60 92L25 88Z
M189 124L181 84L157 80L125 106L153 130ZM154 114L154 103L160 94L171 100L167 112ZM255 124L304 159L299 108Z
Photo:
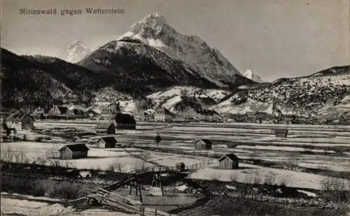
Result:
M59 150L60 159L78 159L87 157L89 148L85 144L64 145Z

